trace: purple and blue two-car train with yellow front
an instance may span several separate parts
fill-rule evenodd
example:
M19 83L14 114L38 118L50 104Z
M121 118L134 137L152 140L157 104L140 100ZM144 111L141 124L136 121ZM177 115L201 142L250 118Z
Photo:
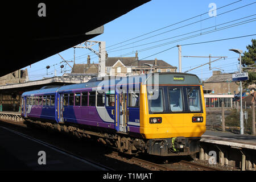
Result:
M93 138L125 154L192 156L206 130L202 83L188 73L92 78L21 99L27 125Z

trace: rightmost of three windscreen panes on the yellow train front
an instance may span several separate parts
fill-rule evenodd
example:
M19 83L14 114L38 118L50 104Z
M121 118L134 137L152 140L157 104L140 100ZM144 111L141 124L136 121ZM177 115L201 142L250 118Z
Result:
M201 111L200 90L191 88L188 89L188 104L190 111Z

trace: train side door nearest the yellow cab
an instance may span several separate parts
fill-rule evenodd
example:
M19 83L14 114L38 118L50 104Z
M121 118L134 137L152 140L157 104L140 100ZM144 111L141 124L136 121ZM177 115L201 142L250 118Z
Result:
M117 93L115 96L115 108L117 117L115 117L115 129L120 132L127 132L126 116L126 93Z

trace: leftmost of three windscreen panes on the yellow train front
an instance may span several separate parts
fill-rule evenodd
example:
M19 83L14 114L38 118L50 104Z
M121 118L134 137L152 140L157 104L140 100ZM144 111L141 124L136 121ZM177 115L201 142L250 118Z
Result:
M152 113L163 112L164 110L163 90L162 89L148 90L148 103L149 103L150 111Z

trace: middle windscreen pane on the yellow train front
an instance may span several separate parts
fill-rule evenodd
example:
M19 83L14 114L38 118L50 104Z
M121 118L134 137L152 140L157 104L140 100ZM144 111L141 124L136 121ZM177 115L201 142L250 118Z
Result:
M181 88L168 88L168 97L171 111L183 111L183 97Z

